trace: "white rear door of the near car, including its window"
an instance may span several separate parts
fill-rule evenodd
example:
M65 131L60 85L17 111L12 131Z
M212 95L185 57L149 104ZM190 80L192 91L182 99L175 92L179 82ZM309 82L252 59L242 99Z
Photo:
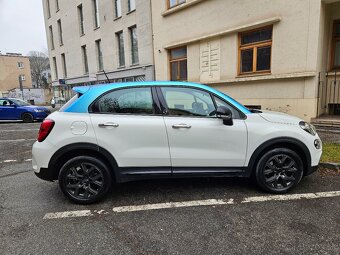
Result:
M122 174L171 174L165 124L152 90L116 89L90 106L98 145L113 155Z

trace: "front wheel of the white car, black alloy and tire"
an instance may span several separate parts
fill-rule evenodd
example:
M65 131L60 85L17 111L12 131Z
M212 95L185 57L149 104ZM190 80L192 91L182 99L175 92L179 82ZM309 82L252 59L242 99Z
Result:
M266 152L256 165L257 184L270 193L283 194L293 189L302 179L301 157L288 148Z

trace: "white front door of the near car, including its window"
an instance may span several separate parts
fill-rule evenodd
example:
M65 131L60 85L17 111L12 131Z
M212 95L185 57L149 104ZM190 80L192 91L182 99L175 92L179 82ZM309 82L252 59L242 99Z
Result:
M241 114L221 98L187 87L161 87L174 174L229 172L244 166L247 130ZM233 112L233 125L216 117L216 106Z

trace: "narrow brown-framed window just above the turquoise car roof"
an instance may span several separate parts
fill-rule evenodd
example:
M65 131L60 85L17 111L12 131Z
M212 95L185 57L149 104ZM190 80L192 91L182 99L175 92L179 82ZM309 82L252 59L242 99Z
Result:
M188 79L186 46L170 50L170 79L172 81Z

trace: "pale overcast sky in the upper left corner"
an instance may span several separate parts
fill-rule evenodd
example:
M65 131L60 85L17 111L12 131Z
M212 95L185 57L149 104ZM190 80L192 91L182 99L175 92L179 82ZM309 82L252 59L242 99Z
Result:
M47 50L42 0L0 0L0 51Z

